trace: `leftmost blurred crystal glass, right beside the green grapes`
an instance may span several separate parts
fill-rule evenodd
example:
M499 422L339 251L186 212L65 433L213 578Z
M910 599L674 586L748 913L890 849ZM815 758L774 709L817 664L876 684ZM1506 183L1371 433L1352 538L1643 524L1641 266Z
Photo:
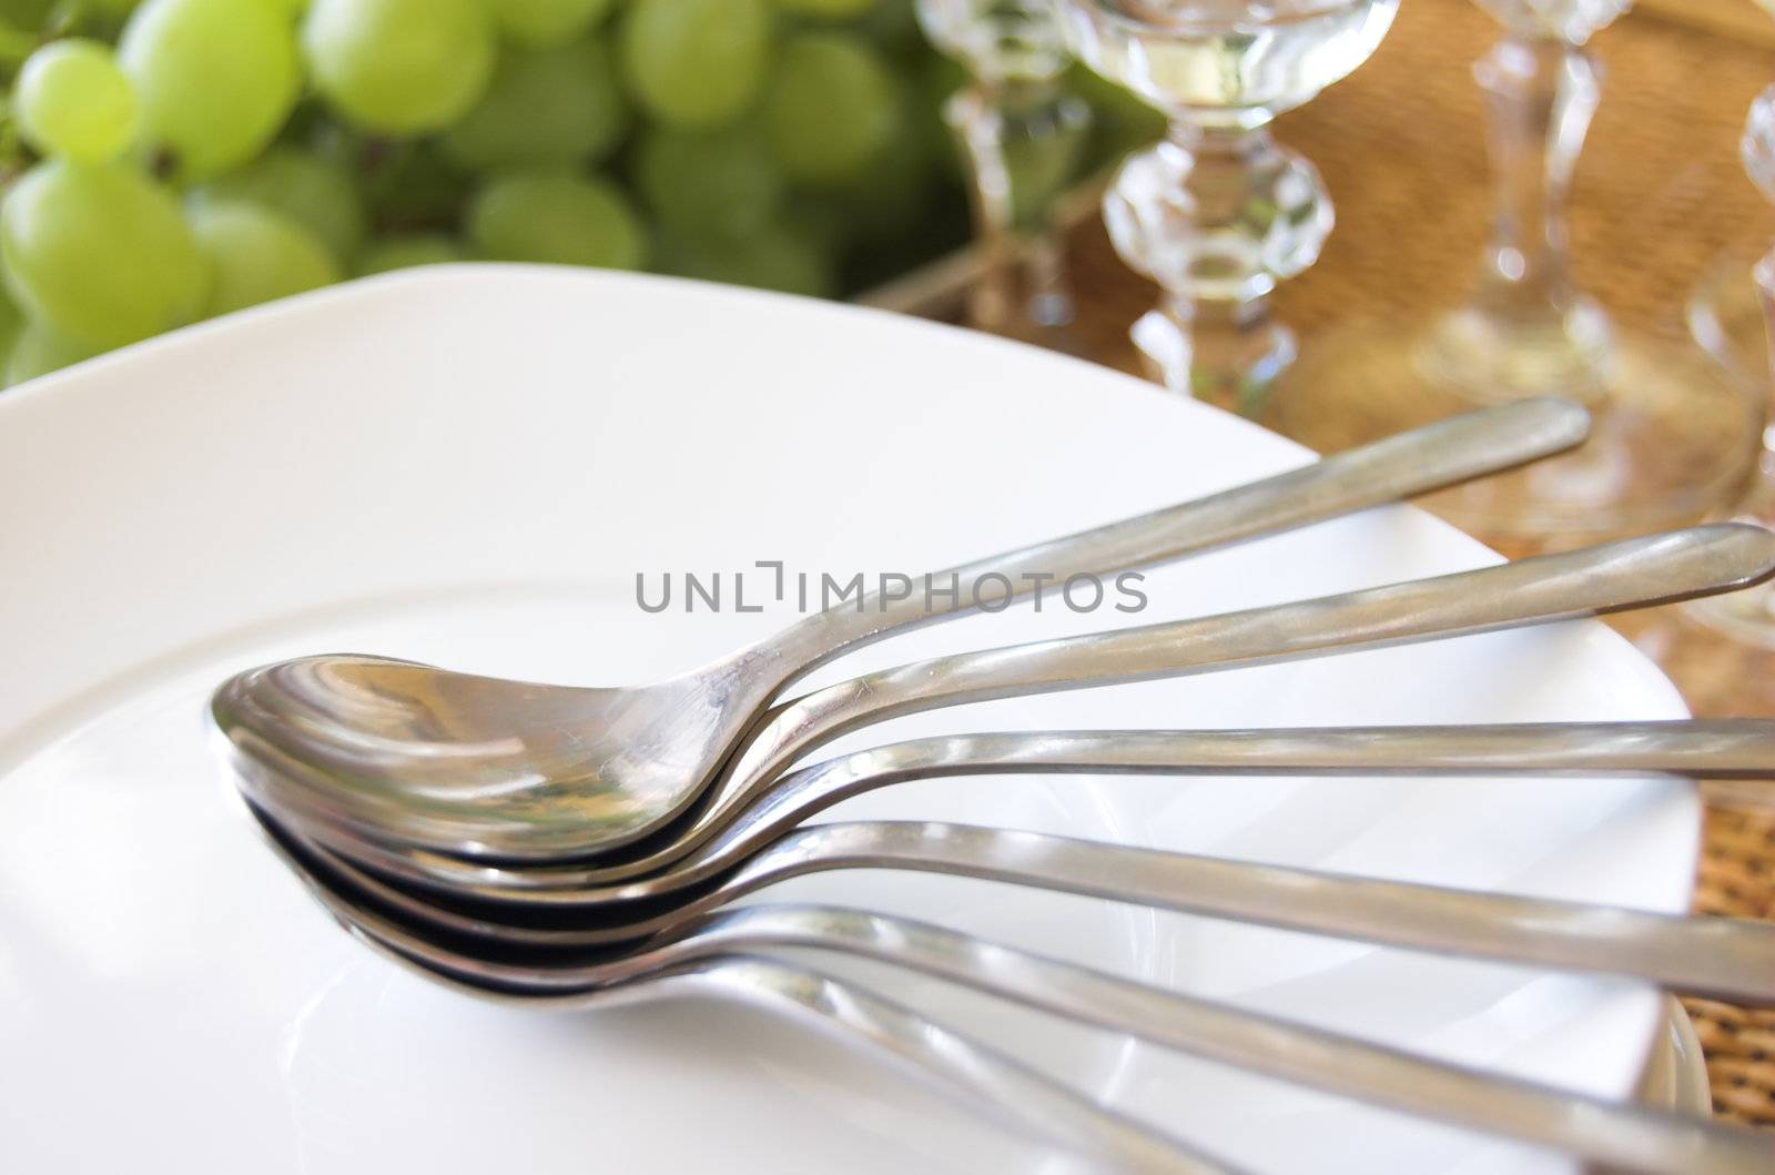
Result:
M918 0L918 21L969 83L943 115L969 177L983 268L967 318L982 330L1065 350L1072 293L1054 197L1077 170L1090 105L1061 89L1070 57L1049 0Z

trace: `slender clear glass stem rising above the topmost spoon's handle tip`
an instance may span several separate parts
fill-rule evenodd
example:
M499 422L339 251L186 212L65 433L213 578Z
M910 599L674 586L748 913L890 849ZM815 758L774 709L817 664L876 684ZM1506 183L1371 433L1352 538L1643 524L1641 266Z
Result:
M1601 96L1582 48L1505 35L1473 69L1495 183L1479 289L1441 343L1441 375L1484 398L1601 394L1608 321L1573 286L1566 204Z

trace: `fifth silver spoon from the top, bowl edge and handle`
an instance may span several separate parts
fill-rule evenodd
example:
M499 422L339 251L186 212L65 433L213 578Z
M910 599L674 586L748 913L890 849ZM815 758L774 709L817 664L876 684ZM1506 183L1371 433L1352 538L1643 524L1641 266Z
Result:
M264 816L261 815L261 820ZM710 958L813 948L923 971L990 996L1127 1033L1328 1093L1505 1134L1603 1163L1663 1175L1761 1175L1768 1148L1736 1131L1526 1081L1487 1076L1406 1051L1242 1012L998 942L864 911L756 905L698 919L625 953L563 966L454 953L378 912L375 893L266 831L314 896L360 939L398 962L476 994L543 1005L598 1005L653 976Z

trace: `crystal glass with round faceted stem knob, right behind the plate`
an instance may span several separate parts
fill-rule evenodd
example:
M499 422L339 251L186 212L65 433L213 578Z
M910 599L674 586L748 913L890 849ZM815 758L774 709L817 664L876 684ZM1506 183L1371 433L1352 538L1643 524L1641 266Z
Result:
M1269 295L1331 233L1324 181L1271 121L1381 44L1399 0L1061 0L1074 53L1170 117L1104 197L1116 252L1163 288L1132 330L1168 387L1253 412L1296 357Z

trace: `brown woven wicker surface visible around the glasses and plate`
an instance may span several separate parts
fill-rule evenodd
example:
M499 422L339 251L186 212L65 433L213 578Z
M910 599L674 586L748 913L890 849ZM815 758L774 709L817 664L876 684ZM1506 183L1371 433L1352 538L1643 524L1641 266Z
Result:
M1409 318L1468 289L1489 192L1471 62L1496 27L1468 0L1411 0L1392 35L1347 82L1282 119L1278 133L1322 170L1338 227L1319 264L1289 282L1276 311L1312 334L1354 318ZM1775 51L1651 16L1629 16L1592 46L1603 103L1573 192L1580 284L1617 321L1684 337L1702 272L1727 250L1755 256L1771 211L1738 165L1750 101L1775 82ZM1077 350L1127 371L1127 325L1154 288L1115 257L1095 222L1074 234L1081 291ZM1647 632L1649 630L1649 632ZM1663 660L1702 715L1775 715L1775 653L1727 646L1672 618L1633 634ZM1741 806L1750 795L1750 806ZM1775 793L1709 792L1695 909L1775 919ZM1715 1108L1775 1129L1775 1013L1690 1001Z

